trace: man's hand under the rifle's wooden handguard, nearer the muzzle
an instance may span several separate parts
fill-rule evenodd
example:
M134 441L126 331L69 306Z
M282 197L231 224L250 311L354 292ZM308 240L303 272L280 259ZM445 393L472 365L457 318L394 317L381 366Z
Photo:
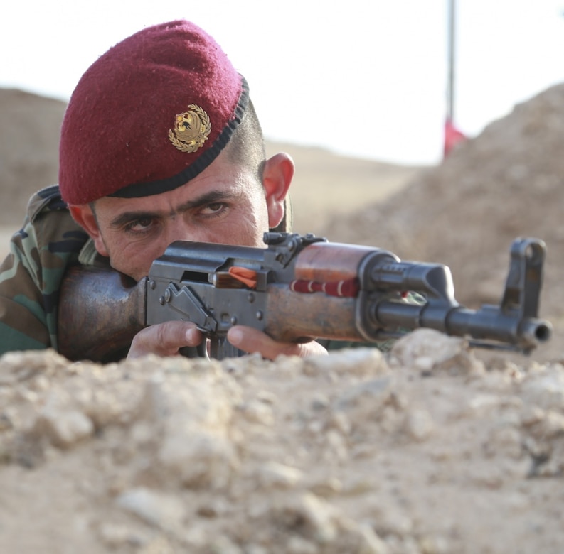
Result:
M276 342L268 335L252 327L235 325L227 333L227 340L245 352L252 354L259 352L262 357L275 359L280 354L286 356L299 356L302 358L327 354L326 349L319 342L304 342L296 344L294 342Z

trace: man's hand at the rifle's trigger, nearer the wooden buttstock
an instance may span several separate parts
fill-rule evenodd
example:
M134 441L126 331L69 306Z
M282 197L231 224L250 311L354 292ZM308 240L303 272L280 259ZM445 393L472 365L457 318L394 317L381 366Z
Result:
M198 346L203 335L191 321L166 321L151 325L133 337L127 359L140 358L147 354L175 356L182 347Z

